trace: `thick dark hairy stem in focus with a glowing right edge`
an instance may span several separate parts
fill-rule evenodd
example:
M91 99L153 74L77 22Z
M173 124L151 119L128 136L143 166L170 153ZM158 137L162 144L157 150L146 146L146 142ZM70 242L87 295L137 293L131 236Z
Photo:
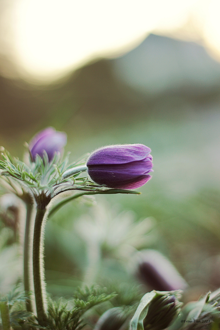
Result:
M46 213L46 206L37 205L37 213L34 225L33 239L33 276L34 276L34 293L36 301L36 310L38 322L45 325L47 315L44 307L44 272L43 272L43 240L42 240L42 223Z

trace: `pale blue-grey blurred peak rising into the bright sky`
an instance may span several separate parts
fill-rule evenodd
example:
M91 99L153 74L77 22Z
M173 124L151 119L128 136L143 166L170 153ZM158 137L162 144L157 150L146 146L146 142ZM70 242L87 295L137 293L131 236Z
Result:
M151 34L113 66L123 82L151 95L173 91L200 97L219 90L220 64L194 42Z

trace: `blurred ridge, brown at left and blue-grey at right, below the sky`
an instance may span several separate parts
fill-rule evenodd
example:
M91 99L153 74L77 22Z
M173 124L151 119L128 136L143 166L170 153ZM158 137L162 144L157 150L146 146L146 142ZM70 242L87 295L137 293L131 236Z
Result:
M90 63L60 82L0 77L0 86L0 135L28 137L47 125L103 129L206 109L220 100L220 63L193 42L149 35L120 58Z

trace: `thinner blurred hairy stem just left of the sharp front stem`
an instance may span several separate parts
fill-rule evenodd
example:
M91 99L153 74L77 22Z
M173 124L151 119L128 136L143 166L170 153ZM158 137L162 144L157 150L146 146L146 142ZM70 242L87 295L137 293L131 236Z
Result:
M25 224L25 234L24 234L24 291L26 294L30 294L31 291L31 277L32 272L31 267L31 216L34 209L33 203L26 203L26 224ZM28 312L33 312L33 306L30 298L26 299L26 308Z

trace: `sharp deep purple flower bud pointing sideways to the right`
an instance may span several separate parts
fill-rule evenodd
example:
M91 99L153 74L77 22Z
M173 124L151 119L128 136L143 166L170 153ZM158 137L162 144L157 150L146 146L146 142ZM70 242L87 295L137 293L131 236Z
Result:
M109 188L139 188L151 179L150 151L142 144L100 148L87 161L88 174L94 182Z

